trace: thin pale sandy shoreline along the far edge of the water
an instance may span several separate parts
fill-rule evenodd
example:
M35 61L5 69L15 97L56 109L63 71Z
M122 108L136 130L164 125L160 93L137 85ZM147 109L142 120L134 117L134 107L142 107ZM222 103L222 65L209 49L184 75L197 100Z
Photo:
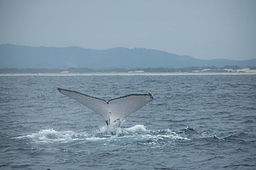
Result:
M0 73L0 76L196 76L256 75L256 72L91 72L91 73Z

